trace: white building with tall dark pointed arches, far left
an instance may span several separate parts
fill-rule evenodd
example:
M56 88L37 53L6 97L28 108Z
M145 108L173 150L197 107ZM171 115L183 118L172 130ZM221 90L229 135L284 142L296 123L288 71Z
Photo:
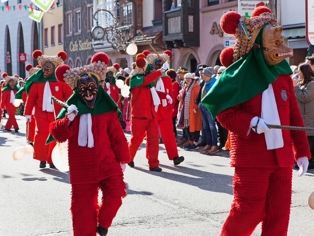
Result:
M40 49L40 32L39 24L28 17L29 8L25 9L24 4L30 4L28 0L16 1L8 0L0 3L3 6L19 6L21 10L4 9L1 12L0 30L3 32L0 43L0 68L2 72L9 75L18 74L24 78L25 65L28 63L38 65L37 61L32 58L35 49ZM25 53L23 55L19 53ZM25 57L25 56L26 57Z

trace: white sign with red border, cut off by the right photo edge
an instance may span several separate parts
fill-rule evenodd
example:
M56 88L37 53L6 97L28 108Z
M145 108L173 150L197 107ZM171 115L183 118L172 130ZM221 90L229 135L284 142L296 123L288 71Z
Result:
M306 41L314 45L314 0L305 1L305 11Z

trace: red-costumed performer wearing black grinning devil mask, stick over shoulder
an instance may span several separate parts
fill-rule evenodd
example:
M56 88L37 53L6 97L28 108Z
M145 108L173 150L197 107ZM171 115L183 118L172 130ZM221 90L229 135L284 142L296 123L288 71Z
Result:
M96 231L105 236L121 198L127 195L122 168L130 154L118 120L117 111L121 112L103 89L109 58L96 53L91 63L76 69L57 67L57 79L75 92L67 101L69 108L63 108L50 124L53 138L58 142L68 139L74 236L96 236ZM76 113L70 114L73 111ZM103 194L99 206L98 188Z

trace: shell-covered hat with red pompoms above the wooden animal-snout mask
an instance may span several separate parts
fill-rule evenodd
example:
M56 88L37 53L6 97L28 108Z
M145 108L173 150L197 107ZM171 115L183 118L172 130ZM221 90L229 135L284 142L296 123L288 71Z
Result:
M234 35L236 45L234 48L225 48L220 53L220 62L228 67L249 53L259 31L267 24L278 26L276 16L269 8L264 6L257 7L252 12L251 18L243 17L233 11L223 14L220 19L221 28L225 33Z

